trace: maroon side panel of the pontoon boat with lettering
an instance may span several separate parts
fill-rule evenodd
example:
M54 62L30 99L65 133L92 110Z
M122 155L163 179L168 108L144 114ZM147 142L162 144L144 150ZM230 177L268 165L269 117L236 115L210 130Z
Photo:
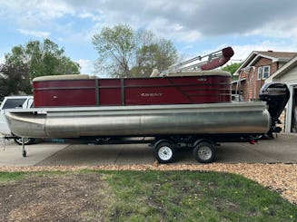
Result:
M157 105L231 101L231 76L46 80L33 84L35 107Z

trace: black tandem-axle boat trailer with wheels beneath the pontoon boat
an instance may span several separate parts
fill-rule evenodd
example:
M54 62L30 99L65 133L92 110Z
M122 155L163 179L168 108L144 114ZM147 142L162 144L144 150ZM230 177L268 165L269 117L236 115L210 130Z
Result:
M211 163L216 156L216 150L222 142L249 142L255 144L263 135L193 135L193 136L163 136L163 137L111 137L111 138L80 138L51 139L54 142L87 145L116 144L148 144L153 150L154 158L162 164L173 163L178 159L179 150L193 150L193 158L200 163ZM22 155L26 157L25 138L22 143Z

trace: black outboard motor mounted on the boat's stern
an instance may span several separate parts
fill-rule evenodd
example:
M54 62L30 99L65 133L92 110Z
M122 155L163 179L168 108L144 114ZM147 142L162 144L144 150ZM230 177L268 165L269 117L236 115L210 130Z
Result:
M290 98L288 86L280 82L270 82L262 86L259 97L261 101L266 101L268 111L272 116L272 127L267 132L268 136L272 136L272 132L280 132L282 128L276 127L276 123L281 123L279 120L284 107Z

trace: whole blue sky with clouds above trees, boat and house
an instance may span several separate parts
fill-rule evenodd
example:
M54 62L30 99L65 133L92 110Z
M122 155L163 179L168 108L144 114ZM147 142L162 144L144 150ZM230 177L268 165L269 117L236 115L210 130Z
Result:
M256 50L297 52L296 12L296 0L0 0L0 63L13 46L49 38L93 74L92 36L114 24L151 30L186 57L232 46L235 63Z

